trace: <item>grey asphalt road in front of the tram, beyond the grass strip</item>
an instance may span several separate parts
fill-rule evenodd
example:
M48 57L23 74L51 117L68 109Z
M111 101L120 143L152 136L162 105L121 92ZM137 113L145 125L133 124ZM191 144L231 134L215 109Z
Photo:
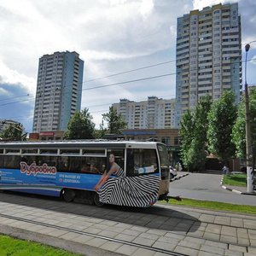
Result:
M181 176L184 172L178 172ZM256 206L255 195L240 195L223 189L220 186L222 175L209 173L189 173L186 177L170 183L170 195L181 195L184 198L221 201L239 205Z

